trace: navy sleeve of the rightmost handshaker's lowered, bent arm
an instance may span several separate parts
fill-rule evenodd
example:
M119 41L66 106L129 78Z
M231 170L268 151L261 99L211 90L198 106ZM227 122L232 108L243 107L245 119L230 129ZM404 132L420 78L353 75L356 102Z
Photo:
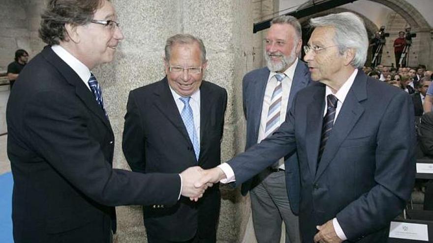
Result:
M410 96L399 92L386 108L377 131L376 185L337 214L349 240L389 227L402 212L415 181L415 142L413 104Z

